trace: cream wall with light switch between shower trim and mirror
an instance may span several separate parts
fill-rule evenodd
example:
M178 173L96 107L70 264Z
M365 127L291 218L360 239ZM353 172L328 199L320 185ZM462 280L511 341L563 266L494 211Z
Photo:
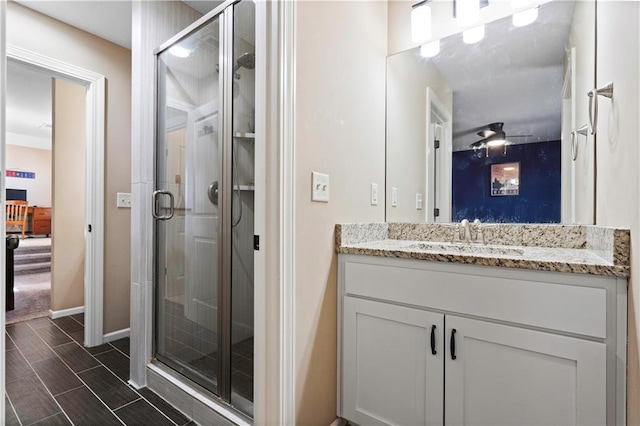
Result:
M296 9L295 423L327 426L336 418L334 226L384 221L387 4ZM329 203L311 201L312 171L330 175Z

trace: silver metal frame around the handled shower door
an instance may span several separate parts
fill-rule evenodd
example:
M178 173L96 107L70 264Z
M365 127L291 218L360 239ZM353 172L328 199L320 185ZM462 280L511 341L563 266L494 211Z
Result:
M154 243L155 250L154 267L153 267L153 328L154 338L152 342L153 357L160 362L174 369L185 378L194 383L203 386L207 391L211 392L211 396L219 399L224 404L231 402L231 224L232 224L232 143L233 143L233 5L241 0L228 0L211 12L204 15L198 21L185 28L180 33L160 45L154 51L155 72L154 85L156 88L155 111L156 125L154 126L155 152L154 152L154 176L155 186L158 182L158 122L164 119L164 112L160 110L159 96L162 93L160 81L158 79L158 56L168 50L175 43L190 36L212 20L219 18L219 64L220 64L220 80L219 80L219 158L221 161L221 169L219 175L219 217L220 225L218 226L218 351L220 358L218 360L217 383L212 380L201 377L195 372L190 372L184 365L171 360L157 353L158 341L158 285L163 280L162 274L159 273L161 266L159 256L164 251L161 247L160 235L163 234L160 221L154 221ZM213 67L214 64L211 64ZM159 189L159 188L155 188ZM155 200L152 200L152 203Z

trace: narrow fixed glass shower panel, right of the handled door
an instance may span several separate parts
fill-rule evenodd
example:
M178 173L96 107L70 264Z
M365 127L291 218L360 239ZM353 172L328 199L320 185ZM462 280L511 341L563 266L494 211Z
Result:
M231 403L253 412L255 2L233 8Z

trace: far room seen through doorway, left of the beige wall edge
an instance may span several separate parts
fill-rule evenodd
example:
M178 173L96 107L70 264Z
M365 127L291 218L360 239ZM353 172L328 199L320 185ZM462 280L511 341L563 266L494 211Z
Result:
M7 324L46 316L51 309L52 100L47 72L8 61L6 199L27 208L22 225L7 224L7 234L21 238L13 250Z

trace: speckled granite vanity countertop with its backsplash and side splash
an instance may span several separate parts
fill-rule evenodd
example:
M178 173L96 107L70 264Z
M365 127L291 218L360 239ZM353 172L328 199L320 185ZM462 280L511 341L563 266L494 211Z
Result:
M356 244L384 240L451 242L452 224L437 223L356 223L336 225L338 253L399 257L438 262L456 262L506 268L536 269L593 275L628 277L630 272L631 236L628 229L593 225L484 225L486 244L520 247L588 250L600 262L572 260L537 260L466 254L425 253L393 248L351 247Z

